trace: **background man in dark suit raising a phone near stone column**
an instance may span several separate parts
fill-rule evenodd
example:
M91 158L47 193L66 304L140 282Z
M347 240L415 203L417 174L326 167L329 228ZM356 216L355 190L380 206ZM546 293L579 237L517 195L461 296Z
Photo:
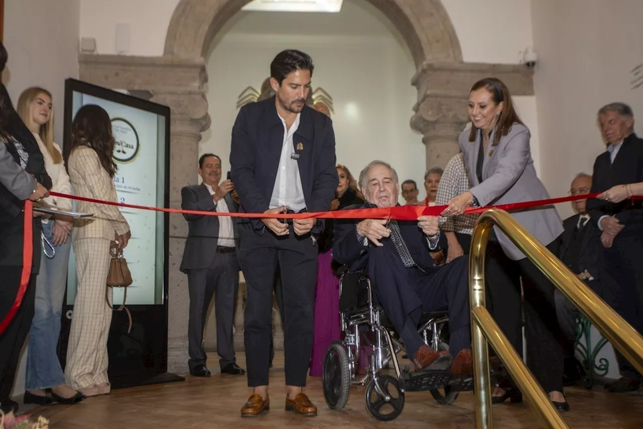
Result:
M237 202L231 196L231 180L221 184L221 158L206 153L199 158L200 185L181 189L184 210L235 213ZM206 353L203 350L203 329L212 295L217 318L217 353L221 372L240 375L246 372L237 365L232 336L237 292L239 262L237 261L237 220L230 216L183 214L188 221L188 238L183 251L181 271L188 274L190 290L190 321L188 342L190 374L209 377Z

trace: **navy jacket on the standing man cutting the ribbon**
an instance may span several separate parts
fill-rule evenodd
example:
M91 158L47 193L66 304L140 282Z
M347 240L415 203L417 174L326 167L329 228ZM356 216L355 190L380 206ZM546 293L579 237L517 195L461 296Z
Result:
M232 181L241 202L239 211L264 213L269 208L283 142L284 126L277 114L275 97L240 109L230 147ZM293 146L293 153L299 155L297 163L307 211L329 210L340 180L335 168L331 119L304 106ZM240 225L255 230L264 226L259 219L244 220ZM313 232L319 233L321 229L323 222L318 222Z

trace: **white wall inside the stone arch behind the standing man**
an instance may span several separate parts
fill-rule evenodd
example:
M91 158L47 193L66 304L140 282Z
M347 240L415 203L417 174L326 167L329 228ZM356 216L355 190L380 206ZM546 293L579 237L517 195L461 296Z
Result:
M229 168L237 97L248 86L259 90L276 53L292 47L312 56L312 87L321 86L333 98L338 162L358 175L380 158L401 177L421 182L425 148L409 126L417 99L409 84L415 66L406 45L368 6L345 3L338 15L313 14L300 21L285 13L243 13L215 42L207 60L212 127L204 133L200 152L216 153L224 171Z

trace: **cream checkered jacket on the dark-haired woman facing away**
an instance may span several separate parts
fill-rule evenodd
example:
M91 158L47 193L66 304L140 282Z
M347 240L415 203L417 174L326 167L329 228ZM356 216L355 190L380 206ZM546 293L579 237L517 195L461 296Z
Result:
M114 181L100 165L94 149L80 146L69 155L69 179L74 195L95 200L118 202ZM115 205L77 201L78 213L93 213L91 218L81 218L71 230L73 241L82 238L106 238L114 240L115 234L129 231L129 224ZM114 234L115 233L115 234Z

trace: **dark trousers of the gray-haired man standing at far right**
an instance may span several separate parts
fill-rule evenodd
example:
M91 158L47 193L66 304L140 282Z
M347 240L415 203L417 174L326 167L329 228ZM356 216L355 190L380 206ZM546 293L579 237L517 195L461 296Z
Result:
M622 235L621 235L622 234ZM604 249L606 271L616 283L613 303L609 303L638 333L643 334L643 227L621 231L612 247ZM637 370L614 349L620 375L640 378Z

